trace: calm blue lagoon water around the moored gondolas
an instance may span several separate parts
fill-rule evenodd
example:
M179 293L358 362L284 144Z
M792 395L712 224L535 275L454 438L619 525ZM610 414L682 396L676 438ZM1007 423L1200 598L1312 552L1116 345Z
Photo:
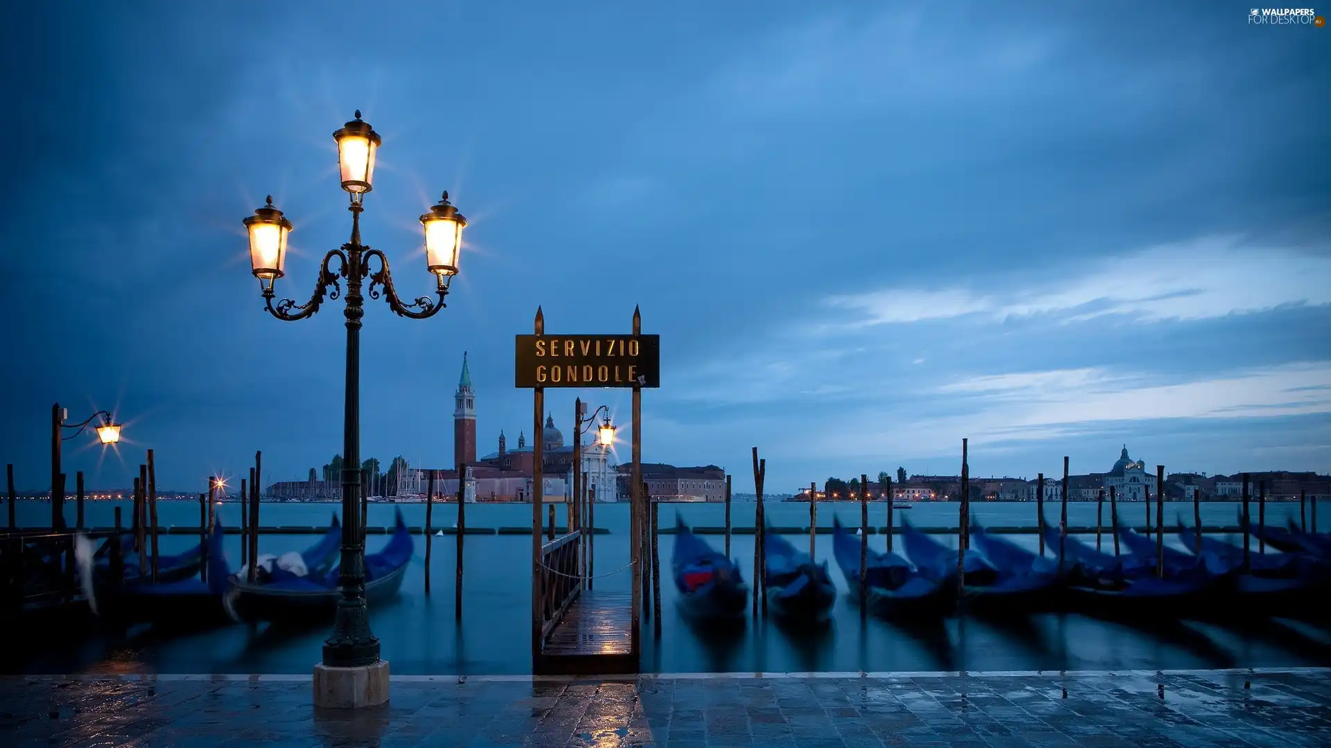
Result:
M87 523L108 527L113 522L116 502L89 502ZM124 516L128 522L128 503ZM1328 504L1319 507L1324 510ZM323 526L341 504L337 503L264 503L261 524ZM401 508L407 523L419 527L425 520L423 504L371 504L369 523L387 527ZM1202 504L1205 524L1234 524L1238 504ZM1299 504L1268 503L1267 522L1284 524L1298 518ZM1311 507L1310 507L1311 508ZM217 507L221 522L236 526L240 504ZM453 527L457 504L435 504L433 524ZM956 503L920 503L898 511L922 527L954 527ZM675 522L675 512L697 526L721 526L720 504L662 504L660 524ZM870 523L885 524L886 506L870 504ZM1050 522L1058 522L1059 507L1046 507ZM1256 520L1256 506L1252 508ZM558 508L558 522L566 522L564 507ZM768 520L775 526L808 526L807 503L769 503ZM988 526L1034 524L1034 503L981 503L973 516ZM67 518L73 522L73 502L67 504ZM860 523L860 507L853 503L825 503L817 507L819 526L829 527L833 515L852 527ZM1069 524L1094 526L1094 502L1067 504ZM1121 522L1139 526L1145 522L1146 504L1119 504ZM39 500L20 502L20 526L49 526L49 504ZM1166 527L1175 516L1191 524L1190 503L1166 503ZM198 526L197 502L160 502L158 522L162 527ZM736 526L753 522L752 503L735 503ZM1154 522L1154 506L1151 507ZM1328 518L1331 519L1331 518ZM1109 507L1105 507L1109 523ZM469 504L469 527L531 526L530 504ZM595 574L598 590L627 590L628 507L598 504L596 526L610 534L595 539ZM719 535L704 536L720 548ZM940 540L954 539L938 536ZM1034 548L1034 535L1013 536ZM1094 543L1094 536L1083 538ZM1233 538L1238 540L1238 538ZM264 535L260 552L285 552L309 546L313 536ZM808 542L795 539L800 547ZM176 552L196 543L189 535L162 535L162 552ZM386 542L382 535L369 536L373 552ZM433 538L431 594L423 592L425 539L417 536L417 559L407 571L402 594L394 603L371 610L371 626L383 646L383 657L399 675L495 675L531 671L531 538L523 535L467 535L465 542L463 615L454 616L455 536ZM882 548L884 538L870 536L870 547ZM1103 538L1106 550L1111 539ZM240 559L238 535L226 538L232 566ZM831 559L831 535L817 536L817 556ZM1171 542L1171 544L1174 544ZM869 619L860 620L858 611L848 602L836 606L827 630L809 632L784 631L773 622L749 619L728 634L699 631L675 610L673 586L668 578L672 536L660 536L660 558L667 575L662 584L662 634L651 634L650 619L643 638L643 669L655 672L809 672L809 671L1002 671L1002 669L1173 669L1214 667L1294 667L1331 665L1331 636L1304 623L1274 620L1251 630L1236 630L1197 622L1162 620L1149 627L1129 627L1081 616L1045 614L1017 623L992 623L980 619L949 619L934 628L908 630ZM1252 542L1256 552L1256 542ZM731 555L741 559L744 576L752 579L753 536L735 535ZM833 578L845 588L835 562L829 560ZM319 659L327 631L282 631L266 626L230 626L221 630L169 636L150 627L136 627L124 635L104 634L59 650L29 652L23 661L5 667L23 672L161 672L161 673L307 673Z

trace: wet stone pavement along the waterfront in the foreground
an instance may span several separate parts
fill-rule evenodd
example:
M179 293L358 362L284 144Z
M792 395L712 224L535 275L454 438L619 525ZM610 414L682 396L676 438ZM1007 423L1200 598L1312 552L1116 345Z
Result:
M315 712L301 676L0 677L0 745L209 748L1331 745L1331 671L394 677Z

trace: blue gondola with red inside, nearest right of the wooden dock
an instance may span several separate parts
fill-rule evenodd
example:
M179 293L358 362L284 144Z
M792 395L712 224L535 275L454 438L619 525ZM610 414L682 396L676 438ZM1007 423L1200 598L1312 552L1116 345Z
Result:
M717 554L675 515L671 575L679 590L679 610L695 619L737 619L748 603L739 564Z

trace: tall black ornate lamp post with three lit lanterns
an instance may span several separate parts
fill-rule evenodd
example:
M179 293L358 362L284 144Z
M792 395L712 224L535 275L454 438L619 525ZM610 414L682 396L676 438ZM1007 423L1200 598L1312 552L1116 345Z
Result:
M254 277L260 280L264 302L268 311L278 319L295 321L311 317L319 310L325 295L335 299L342 294L339 278L346 281L346 413L342 443L342 570L338 587L342 599L338 602L333 635L323 642L323 664L326 667L354 668L373 665L379 661L379 639L370 631L370 618L365 606L365 538L361 527L361 317L365 314L361 285L369 278L369 295L381 295L389 307L402 317L425 319L434 317L445 307L449 283L458 274L458 254L462 250L462 229L467 225L458 209L449 205L449 193L443 200L421 216L425 226L426 266L434 273L438 299L419 297L411 303L398 298L389 273L389 260L378 249L361 244L361 210L365 193L373 189L374 158L382 140L369 124L355 120L333 133L338 145L342 189L351 194L351 241L341 249L333 249L323 256L319 265L314 294L299 306L291 299L273 303L274 282L284 276L286 261L286 240L291 222L282 212L273 208L269 196L268 205L245 218L249 230L250 264ZM337 260L337 269L330 262ZM378 270L370 269L370 260L378 260Z

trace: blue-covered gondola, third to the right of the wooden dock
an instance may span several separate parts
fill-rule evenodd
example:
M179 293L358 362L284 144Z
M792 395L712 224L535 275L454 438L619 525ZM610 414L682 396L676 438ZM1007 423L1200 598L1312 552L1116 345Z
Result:
M833 518L832 556L851 588L851 600L860 600L860 540L852 536L841 520ZM952 611L954 588L920 574L904 558L868 550L864 592L868 612L898 622L918 623L936 620Z

